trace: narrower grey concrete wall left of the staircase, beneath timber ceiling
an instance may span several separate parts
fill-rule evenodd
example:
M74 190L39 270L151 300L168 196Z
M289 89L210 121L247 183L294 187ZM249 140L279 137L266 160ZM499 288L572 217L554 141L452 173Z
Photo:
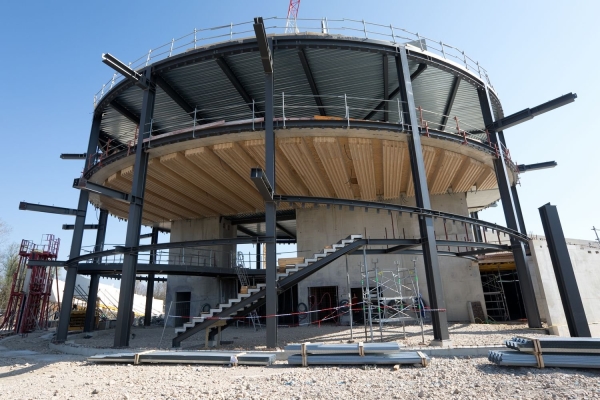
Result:
M233 238L236 230L231 223L219 217L197 220L173 221L171 242L202 239ZM169 262L172 264L212 265L221 268L231 267L231 257L235 256L235 245L202 248L172 249ZM167 280L166 309L171 301L175 302L177 292L191 292L190 315L199 316L204 304L215 307L237 292L233 279L220 279L197 276L173 276ZM170 315L175 315L175 304ZM169 318L168 325L173 326L174 319Z

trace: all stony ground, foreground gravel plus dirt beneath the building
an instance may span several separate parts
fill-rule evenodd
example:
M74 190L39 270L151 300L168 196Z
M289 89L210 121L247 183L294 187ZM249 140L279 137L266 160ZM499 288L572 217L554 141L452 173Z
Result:
M400 328L401 329L401 328ZM451 325L455 345L500 344L515 334L542 335L525 325ZM167 342L173 329L165 331ZM419 327L407 328L407 345L421 341ZM362 337L359 337L359 332ZM133 328L131 345L157 348L162 328ZM113 330L95 337L70 336L88 347L110 347ZM375 334L375 332L374 332ZM377 334L379 332L377 331ZM425 330L426 340L431 338ZM223 340L231 348L261 349L264 329L230 328ZM364 339L364 328L355 331ZM388 332L388 338L401 332ZM52 332L0 341L0 398L2 399L556 399L599 398L600 370L507 368L491 364L485 357L433 357L426 368L401 367L293 367L278 361L269 367L225 367L199 365L92 364L84 357L56 354L49 349ZM340 342L349 339L349 329L335 326L282 328L285 343ZM185 343L185 342L184 342ZM199 346L187 343L186 346ZM168 347L163 338L163 345Z

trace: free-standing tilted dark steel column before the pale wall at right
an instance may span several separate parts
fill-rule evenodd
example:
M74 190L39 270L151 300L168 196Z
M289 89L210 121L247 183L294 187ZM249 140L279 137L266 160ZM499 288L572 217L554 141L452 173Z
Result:
M567 317L569 333L571 337L591 337L590 326L585 316L573 264L569 257L567 242L558 217L558 210L556 206L548 203L540 207L539 211L548 250L550 251L552 267L554 267L554 274L556 275L560 299Z

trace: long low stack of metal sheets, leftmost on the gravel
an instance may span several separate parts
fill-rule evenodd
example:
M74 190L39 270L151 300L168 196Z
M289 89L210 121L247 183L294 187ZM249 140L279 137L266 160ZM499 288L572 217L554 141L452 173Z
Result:
M275 354L239 351L147 351L96 355L88 357L88 361L128 364L271 365L275 361Z

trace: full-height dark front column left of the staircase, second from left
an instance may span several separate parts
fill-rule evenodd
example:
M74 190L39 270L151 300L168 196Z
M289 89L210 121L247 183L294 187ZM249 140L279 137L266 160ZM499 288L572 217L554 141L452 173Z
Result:
M142 113L140 116L138 142L135 149L135 164L133 167L133 182L131 185L131 203L127 218L127 234L125 247L135 247L140 244L140 230L142 227L142 211L144 189L146 187L146 174L148 170L148 153L144 150L143 140L150 137L152 114L156 89L152 82L151 68L144 70L146 78L150 79L148 89L144 90L142 100ZM135 290L135 275L137 267L137 253L128 253L123 256L123 274L121 276L121 290L119 293L119 311L117 313L117 326L115 329L114 347L128 347L131 331L131 310L133 309L133 294Z

